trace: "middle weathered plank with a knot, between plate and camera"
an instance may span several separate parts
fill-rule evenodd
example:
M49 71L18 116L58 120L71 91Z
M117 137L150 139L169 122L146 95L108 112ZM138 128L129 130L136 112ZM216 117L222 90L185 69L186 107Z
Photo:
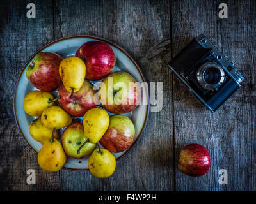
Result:
M108 179L61 170L65 191L173 190L172 78L170 52L147 59L150 47L170 38L168 1L58 1L55 36L92 34L118 43L134 57L148 82L163 82L163 110L151 112L140 142ZM170 51L170 50L169 50Z

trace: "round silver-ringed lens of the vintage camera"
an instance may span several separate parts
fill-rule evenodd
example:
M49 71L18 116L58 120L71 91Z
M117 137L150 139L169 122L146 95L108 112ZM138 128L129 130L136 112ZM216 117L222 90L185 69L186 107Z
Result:
M196 78L204 89L217 89L225 80L225 72L215 62L206 62L199 67Z

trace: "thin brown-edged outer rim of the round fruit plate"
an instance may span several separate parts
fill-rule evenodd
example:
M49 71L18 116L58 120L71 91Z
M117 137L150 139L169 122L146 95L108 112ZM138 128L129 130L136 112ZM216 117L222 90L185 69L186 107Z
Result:
M28 61L26 61L25 65L22 67L22 70L20 71L19 73L19 77L16 81L16 84L15 84L15 90L14 90L14 96L13 96L13 113L14 113L14 118L15 118L15 123L16 123L16 126L17 128L19 129L19 132L20 132L20 135L22 135L22 138L23 140L27 143L27 145L30 147L30 149L33 150L33 152L35 152L36 154L38 154L38 152L36 152L36 150L29 144L28 140L26 140L26 137L24 136L24 133L22 132L20 126L19 126L19 122L17 120L17 112L16 112L16 91L17 91L17 85L19 84L19 81L20 81L20 77L21 75L24 73L26 67L28 66L28 64L30 63L30 61L35 57L36 54L38 54L39 52L41 52L42 50L44 50L44 48L47 48L49 47L50 45L54 45L55 43L58 43L60 41L64 41L64 40L68 40L68 39L72 39L72 38L91 38L93 40L100 40L100 41L104 41L110 45L112 45L113 47L116 47L118 50L120 50L124 55L126 55L129 60L132 62L132 64L134 64L135 68L138 70L138 73L140 74L143 82L147 82L145 80L145 77L143 76L143 73L140 69L140 67L138 66L138 64L134 61L134 59L132 59L131 55L128 54L127 51L124 50L124 48L120 47L119 45L117 45L116 43L113 43L112 41L109 41L109 40L106 40L105 38L101 38L101 37L98 37L98 36L92 36L92 35L86 35L86 34L81 34L81 35L70 35L70 36L65 36L63 38L59 38L57 40L53 40L49 43L47 43L46 45L44 45L43 47L39 48L38 50L36 50L36 52L33 53L33 55L31 55L31 57L28 59ZM147 95L148 95L148 104L147 104L147 113L146 113L146 117L145 117L145 120L143 122L143 126L141 128L141 131L140 133L138 134L138 137L136 138L136 140L132 143L132 145L129 147L129 149L126 150L126 152L124 154L122 154L120 157L118 157L116 159L116 161L120 161L124 156L126 156L130 151L131 149L134 148L134 146L136 145L136 143L138 142L138 140L140 139L146 125L147 125L147 122L148 122L148 116L149 116L149 103L150 103L150 97L149 97L149 92L148 92L148 89L147 89ZM70 171L88 171L89 169L88 168L84 168L84 169L77 169L77 168L68 168L68 167L65 167L63 166L63 169L65 170L70 170Z

